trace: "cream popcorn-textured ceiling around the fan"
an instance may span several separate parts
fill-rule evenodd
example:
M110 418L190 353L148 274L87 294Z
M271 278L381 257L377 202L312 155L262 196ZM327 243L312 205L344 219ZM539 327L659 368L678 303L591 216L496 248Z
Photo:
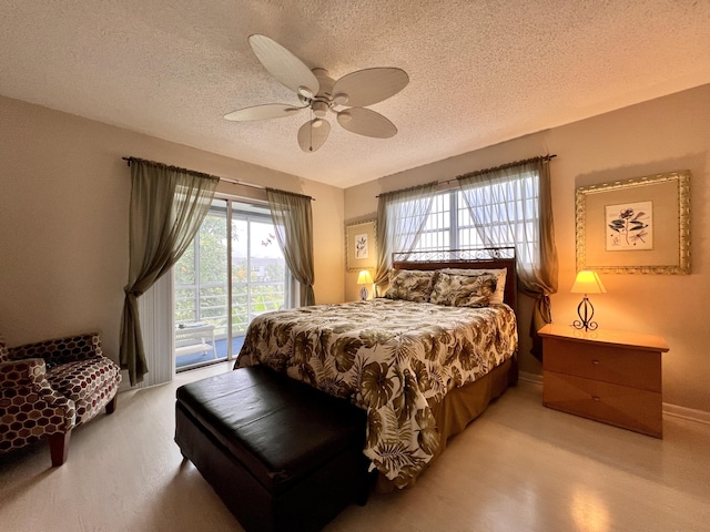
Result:
M0 0L0 94L339 187L710 82L710 0ZM306 154L305 113L223 120L297 102L252 33L335 79L404 69L409 84L372 106L398 134L333 123Z

